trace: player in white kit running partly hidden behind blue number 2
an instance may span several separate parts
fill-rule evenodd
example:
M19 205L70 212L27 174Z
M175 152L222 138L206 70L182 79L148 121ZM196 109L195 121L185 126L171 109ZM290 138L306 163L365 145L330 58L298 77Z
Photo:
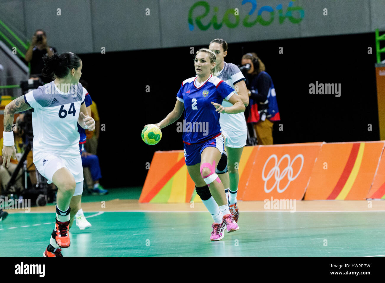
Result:
M209 49L215 53L218 64L219 72L216 76L235 89L243 104L247 106L249 105L249 95L244 82L245 77L236 65L224 62L227 48L227 43L223 39L214 39L209 44ZM223 105L227 107L231 104L223 100ZM226 152L219 160L216 172L223 182L231 214L233 214L234 220L238 222L239 209L236 199L239 182L238 167L243 147L246 146L247 125L243 112L232 115L221 113L219 123L226 137Z

